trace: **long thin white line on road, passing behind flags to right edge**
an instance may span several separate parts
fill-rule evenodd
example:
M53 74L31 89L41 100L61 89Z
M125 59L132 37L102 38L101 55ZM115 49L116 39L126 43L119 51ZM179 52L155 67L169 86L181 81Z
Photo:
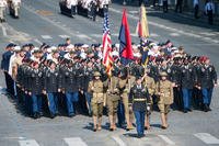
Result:
M112 12L122 14L120 11L115 10L115 9L113 9L113 8L110 8L110 10L111 10ZM138 20L138 19L139 19L138 16L135 16L135 15L132 15L132 14L128 14L128 18L131 18L131 19L134 19L134 20ZM171 31L171 32L177 32L178 34L183 34L183 35L187 35L187 36L200 38L200 40L204 40L204 41L209 40L208 42L211 42L211 43L216 43L216 42L218 41L218 40L212 40L211 37L206 37L206 36L201 36L201 35L198 35L198 34L188 33L188 32L185 32L185 31L182 31L182 30L178 30L178 29L165 26L165 25L162 25L162 24L159 24L159 23L155 23L155 22L149 21L148 23L149 23L150 25L158 26L158 27L160 27L160 29L164 29L164 30L168 30L168 31Z

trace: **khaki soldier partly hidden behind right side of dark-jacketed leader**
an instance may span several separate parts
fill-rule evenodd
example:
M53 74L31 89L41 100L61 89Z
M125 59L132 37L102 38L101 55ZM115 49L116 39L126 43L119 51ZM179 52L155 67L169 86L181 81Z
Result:
M149 76L150 70L148 68L145 71L146 74L142 79L143 79L145 87L148 89L149 99L150 99L147 104L145 128L150 130L150 114L151 114L152 105L153 105L152 96L155 93L155 81L153 78Z

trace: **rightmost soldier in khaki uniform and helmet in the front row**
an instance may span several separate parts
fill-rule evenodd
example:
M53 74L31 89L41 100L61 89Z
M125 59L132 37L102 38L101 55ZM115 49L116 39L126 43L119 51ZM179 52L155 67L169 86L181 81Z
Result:
M159 97L158 106L161 113L161 128L168 128L168 113L170 105L173 103L173 87L172 82L168 80L168 74L160 74L161 80L157 83L155 94Z

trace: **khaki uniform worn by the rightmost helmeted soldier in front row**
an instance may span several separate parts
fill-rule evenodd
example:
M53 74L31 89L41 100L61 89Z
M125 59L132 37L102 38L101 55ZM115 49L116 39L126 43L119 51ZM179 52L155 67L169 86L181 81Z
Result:
M161 113L168 114L170 105L173 103L173 87L169 80L160 80L157 85L157 94L159 94L158 106Z

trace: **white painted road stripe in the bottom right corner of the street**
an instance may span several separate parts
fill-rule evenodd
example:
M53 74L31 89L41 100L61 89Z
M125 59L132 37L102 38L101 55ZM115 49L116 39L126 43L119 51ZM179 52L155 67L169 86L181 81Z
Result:
M208 145L219 144L219 139L208 133L197 133L194 135Z

